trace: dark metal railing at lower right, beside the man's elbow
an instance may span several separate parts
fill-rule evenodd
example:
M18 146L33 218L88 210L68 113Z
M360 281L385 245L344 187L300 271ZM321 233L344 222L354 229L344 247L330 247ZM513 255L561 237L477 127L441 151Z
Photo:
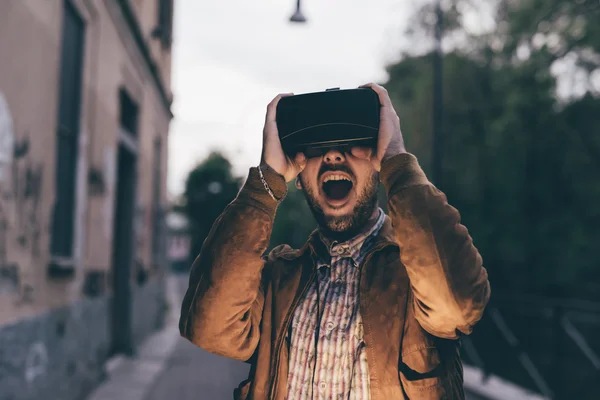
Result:
M465 361L550 399L598 398L600 303L495 294Z

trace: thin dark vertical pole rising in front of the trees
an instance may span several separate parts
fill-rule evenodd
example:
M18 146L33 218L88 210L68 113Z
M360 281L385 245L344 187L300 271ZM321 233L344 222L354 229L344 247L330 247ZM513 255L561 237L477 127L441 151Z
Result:
M442 185L442 124L444 117L444 102L442 90L442 22L443 12L441 0L435 4L435 49L433 51L433 123L431 130L432 147L432 179L438 188Z

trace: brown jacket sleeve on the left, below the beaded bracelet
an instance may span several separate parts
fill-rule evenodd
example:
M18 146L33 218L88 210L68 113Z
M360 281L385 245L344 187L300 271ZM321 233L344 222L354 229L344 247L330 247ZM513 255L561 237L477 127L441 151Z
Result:
M275 197L283 199L285 180L261 167ZM225 357L250 359L260 338L266 258L278 205L251 168L248 179L213 224L194 261L181 306L181 336Z

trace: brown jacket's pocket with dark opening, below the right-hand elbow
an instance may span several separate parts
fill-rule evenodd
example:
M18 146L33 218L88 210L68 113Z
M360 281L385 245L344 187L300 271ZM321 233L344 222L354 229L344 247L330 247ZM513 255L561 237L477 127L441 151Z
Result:
M445 398L440 380L440 355L435 346L407 349L399 365L400 382L410 400Z

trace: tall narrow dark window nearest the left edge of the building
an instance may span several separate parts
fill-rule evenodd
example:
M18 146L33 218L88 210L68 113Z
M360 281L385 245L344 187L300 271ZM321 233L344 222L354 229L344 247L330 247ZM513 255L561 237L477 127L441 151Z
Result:
M84 28L83 20L66 0L63 8L56 137L56 203L50 245L53 264L60 266L72 266Z

